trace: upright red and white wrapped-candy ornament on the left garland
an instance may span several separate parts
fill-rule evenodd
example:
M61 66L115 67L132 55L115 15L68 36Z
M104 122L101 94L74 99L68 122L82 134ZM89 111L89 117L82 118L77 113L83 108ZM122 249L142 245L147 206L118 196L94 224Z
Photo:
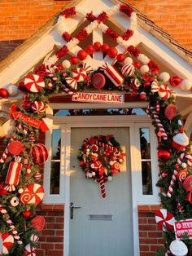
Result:
M11 161L9 165L6 178L7 186L5 187L9 192L15 191L15 186L20 182L20 172L23 166L20 160L20 157L15 157L15 161Z

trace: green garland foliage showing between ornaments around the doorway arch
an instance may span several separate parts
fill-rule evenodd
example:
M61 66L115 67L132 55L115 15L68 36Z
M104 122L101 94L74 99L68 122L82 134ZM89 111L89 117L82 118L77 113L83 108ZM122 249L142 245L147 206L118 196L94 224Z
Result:
M46 67L45 66L40 66L37 68L35 73L39 73L40 71L43 73L41 76L44 78L45 81L45 87L40 90L38 93L33 93L25 90L25 93L27 95L27 101L29 104L29 108L26 108L26 98L23 100L22 104L18 106L20 108L20 112L28 115L29 117L34 117L37 120L41 120L42 117L45 116L45 113L37 114L33 113L31 105L35 101L41 101L45 106L48 104L48 99L50 96L54 94L58 94L59 92L64 92L63 88L68 88L68 90L71 90L71 88L68 86L68 83L66 82L66 77L72 77L72 70L63 70L61 65L55 66L55 73L52 77L50 77L49 73L46 73ZM116 66L117 70L120 72L120 66ZM100 68L98 70L94 70L94 73L103 73ZM93 76L94 73L88 73L85 81L83 82L78 82L77 90L90 90L93 89L94 87L92 86L91 83L91 77ZM105 76L105 74L103 73ZM112 85L111 81L105 76L106 78L106 85L104 86L103 89L105 90L117 90L116 86ZM134 81L137 79L137 82L139 82L140 86L137 88L134 86ZM175 99L173 97L170 97L169 99L161 99L159 97L158 92L151 92L151 82L154 80L157 80L159 82L159 86L163 84L163 81L159 79L157 74L151 74L151 73L146 73L142 74L138 69L136 69L135 73L133 74L132 77L125 76L124 77L124 84L122 86L118 87L118 90L124 90L125 92L129 92L133 95L140 95L141 93L146 94L146 101L150 103L150 106L152 108L156 107L156 103L159 102L159 107L160 107L160 112L159 112L159 120L161 121L162 125L164 126L164 130L166 134L168 135L168 139L164 140L161 139L159 141L158 145L158 150L162 148L167 148L172 152L172 156L168 161L161 161L159 160L159 169L162 172L166 172L168 175L167 177L162 178L162 175L159 174L159 181L157 183L157 186L161 188L161 193L159 194L161 198L161 203L162 206L167 209L170 213L174 214L174 217L177 220L180 219L185 219L185 218L191 218L192 216L192 207L189 201L185 201L185 196L187 192L179 187L178 183L176 182L173 192L172 192L172 197L168 198L164 196L164 193L166 194L168 191L168 186L170 183L170 180L172 179L172 172L174 170L174 166L177 162L177 158L180 156L181 152L180 150L177 150L175 148L172 148L172 138L174 135L177 135L179 133L179 130L181 126L178 124L178 121L180 120L181 116L177 113L176 117L172 118L172 121L169 121L165 116L164 116L164 111L165 108L169 104L175 104ZM19 86L21 88L21 85ZM22 89L23 90L23 89ZM153 118L153 116L151 115ZM159 132L159 126L157 126L156 122L154 120L153 124L155 126L155 132L157 135ZM24 133L24 130L18 130L17 127L19 125L24 125L27 126L28 128L28 133L27 135ZM7 213L10 215L11 220L15 224L15 228L17 229L18 233L20 234L21 240L23 241L23 245L19 245L17 243L14 243L13 247L10 249L10 254L12 256L16 255L25 255L24 254L24 247L28 244L33 244L32 241L30 241L30 236L32 234L37 234L37 228L32 227L32 220L35 217L35 207L36 205L26 205L23 203L19 203L19 205L12 207L10 205L11 198L13 196L20 197L19 189L24 188L28 186L31 183L37 183L35 179L35 174L40 172L40 166L37 166L33 163L31 157L30 157L30 148L33 145L33 142L30 140L30 136L33 134L35 136L36 141L39 138L39 130L37 128L34 128L32 126L29 126L28 123L24 123L20 120L15 120L15 127L12 131L12 137L15 140L19 140L22 143L24 143L25 151L20 154L20 157L22 158L22 161L24 159L27 159L28 165L31 166L31 174L28 176L26 175L27 173L27 167L23 166L21 170L21 175L20 175L20 183L18 186L16 186L15 192L8 192L6 195L3 195L1 193L1 198L0 198L0 204L5 207L7 210ZM159 139L159 136L158 136ZM5 143L6 145L9 143L10 139L6 139ZM189 152L190 151L190 145L185 148L184 152ZM81 154L79 155L81 158ZM1 182L2 185L5 182L6 176L7 176L7 170L9 163L13 161L13 157L8 157L7 160L0 165L0 173L1 173ZM188 169L189 174L191 175L190 169ZM1 188L2 189L2 188ZM0 192L3 191L3 189ZM177 203L180 203L183 208L183 212L181 213L177 209ZM30 210L32 211L32 215L29 216L28 218L24 218L24 211ZM4 218L2 218L2 214L0 214L0 222L1 222L1 227L0 227L0 232L5 233L5 232L10 232L10 227L7 225L7 222ZM169 248L169 245L172 240L174 240L174 232L164 232L165 240L165 249L162 252L158 252L156 255L164 255L164 252L167 251ZM188 238L184 238L183 240L185 242L185 245L190 247L192 246L192 241L190 241Z

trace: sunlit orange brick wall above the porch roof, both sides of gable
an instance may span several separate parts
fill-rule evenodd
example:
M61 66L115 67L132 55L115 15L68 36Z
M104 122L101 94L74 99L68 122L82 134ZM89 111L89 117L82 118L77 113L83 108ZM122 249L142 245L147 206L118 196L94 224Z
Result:
M192 50L191 0L126 0L155 21L172 38ZM46 24L70 1L2 0L0 1L0 60L24 39ZM177 25L176 25L177 23ZM10 42L11 41L11 42Z

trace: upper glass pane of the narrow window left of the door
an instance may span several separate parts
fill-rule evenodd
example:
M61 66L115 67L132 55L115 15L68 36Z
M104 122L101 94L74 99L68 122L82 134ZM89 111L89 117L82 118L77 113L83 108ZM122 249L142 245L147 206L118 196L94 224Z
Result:
M52 156L51 159L60 160L60 150L61 150L61 130L53 130L52 133Z

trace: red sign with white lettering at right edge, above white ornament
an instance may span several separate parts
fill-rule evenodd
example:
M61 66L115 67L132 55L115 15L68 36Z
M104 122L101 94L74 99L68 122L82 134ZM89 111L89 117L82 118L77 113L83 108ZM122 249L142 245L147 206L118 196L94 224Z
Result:
M174 223L174 230L177 239L180 239L181 236L184 235L187 235L192 239L192 218L176 221Z

